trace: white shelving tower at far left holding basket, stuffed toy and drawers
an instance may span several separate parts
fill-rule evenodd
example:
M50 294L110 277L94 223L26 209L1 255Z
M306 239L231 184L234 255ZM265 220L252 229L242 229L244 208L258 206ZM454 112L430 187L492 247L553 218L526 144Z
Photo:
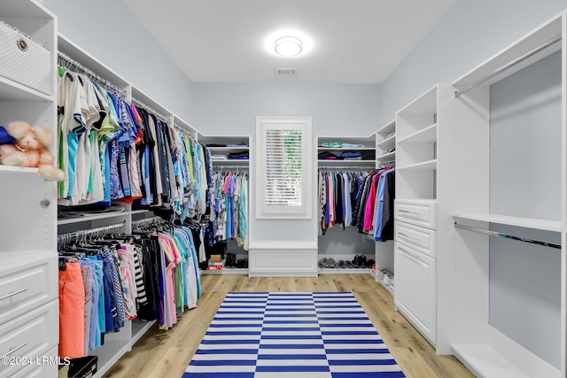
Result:
M0 20L49 50L43 63L50 74L49 94L0 77L0 125L23 120L57 135L57 19L35 1L0 0ZM3 64L10 64L10 58L3 57ZM57 150L57 144L50 149ZM36 168L12 166L0 166L0 182L0 355L54 359L58 356L56 183L43 181ZM57 376L58 367L2 367L5 376L32 373Z

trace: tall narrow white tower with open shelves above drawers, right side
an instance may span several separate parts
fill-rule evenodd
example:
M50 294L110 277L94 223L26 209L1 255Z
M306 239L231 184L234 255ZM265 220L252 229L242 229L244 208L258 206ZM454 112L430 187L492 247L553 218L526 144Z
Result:
M438 156L452 127L447 107L453 89L439 83L396 113L396 204L394 304L432 344L437 343L438 303L436 239L438 228ZM440 176L439 176L440 175ZM439 234L438 234L439 233Z

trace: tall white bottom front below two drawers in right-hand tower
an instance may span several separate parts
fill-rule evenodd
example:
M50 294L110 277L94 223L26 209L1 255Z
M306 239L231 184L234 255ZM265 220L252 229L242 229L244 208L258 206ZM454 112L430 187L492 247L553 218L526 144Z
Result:
M394 243L396 291L394 303L421 334L437 341L435 259L402 243Z

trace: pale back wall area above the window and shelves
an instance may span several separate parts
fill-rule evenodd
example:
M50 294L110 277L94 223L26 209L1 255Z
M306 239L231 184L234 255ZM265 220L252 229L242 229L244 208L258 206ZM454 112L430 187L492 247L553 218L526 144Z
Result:
M370 135L380 126L377 85L193 83L205 135L254 135L256 116L312 117L314 135Z

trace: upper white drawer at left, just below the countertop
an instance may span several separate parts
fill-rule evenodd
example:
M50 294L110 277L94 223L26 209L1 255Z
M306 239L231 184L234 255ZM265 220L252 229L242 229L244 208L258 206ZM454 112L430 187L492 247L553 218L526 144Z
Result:
M58 297L58 258L47 251L2 252L0 324Z

